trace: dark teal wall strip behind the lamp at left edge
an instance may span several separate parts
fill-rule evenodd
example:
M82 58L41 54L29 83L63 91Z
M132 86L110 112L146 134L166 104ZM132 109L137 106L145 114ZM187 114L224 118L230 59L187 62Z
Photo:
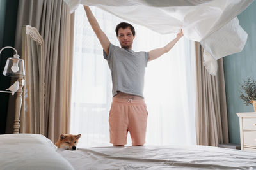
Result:
M0 0L0 49L14 46L19 0ZM0 55L0 90L10 87L10 78L3 76L8 57L13 56L12 49L4 49ZM0 93L0 134L5 134L9 94Z

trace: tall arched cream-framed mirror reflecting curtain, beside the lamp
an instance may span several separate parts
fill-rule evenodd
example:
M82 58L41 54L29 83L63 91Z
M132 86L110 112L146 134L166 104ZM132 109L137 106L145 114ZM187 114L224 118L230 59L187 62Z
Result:
M24 78L25 87L22 95L23 107L20 116L20 122L22 122L20 132L27 129L27 132L30 133L45 134L45 120L43 118L45 91L44 39L35 27L29 25L22 27L21 57L25 62L26 77ZM26 114L26 117L24 117L24 114ZM26 122L36 122L36 124Z

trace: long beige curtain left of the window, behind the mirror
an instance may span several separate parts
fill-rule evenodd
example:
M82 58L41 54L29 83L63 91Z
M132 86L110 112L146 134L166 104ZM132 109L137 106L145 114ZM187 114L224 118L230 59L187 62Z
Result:
M21 53L22 25L36 27L45 42L45 136L56 141L60 134L69 132L70 94L72 78L72 48L74 14L68 13L67 4L62 0L20 0L15 36L15 48ZM12 103L10 101L10 103ZM9 104L10 106L10 104ZM22 110L26 110L26 103ZM13 106L8 107L12 115ZM23 113L21 131L40 132L36 119ZM27 117L28 116L28 117ZM14 118L14 115L12 116Z

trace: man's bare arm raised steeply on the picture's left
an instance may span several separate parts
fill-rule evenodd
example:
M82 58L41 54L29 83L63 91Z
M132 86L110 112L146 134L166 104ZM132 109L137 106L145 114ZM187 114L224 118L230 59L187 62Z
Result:
M88 21L89 21L93 31L95 32L97 38L99 39L100 44L101 44L104 52L108 55L108 53L109 53L109 44L110 44L110 41L109 41L108 37L100 29L100 25L98 24L96 18L93 16L93 13L90 10L89 6L84 5L84 10L86 12Z

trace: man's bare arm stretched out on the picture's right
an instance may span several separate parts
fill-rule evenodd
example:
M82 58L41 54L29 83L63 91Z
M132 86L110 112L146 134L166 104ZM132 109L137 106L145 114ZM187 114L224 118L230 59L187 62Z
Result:
M183 36L183 32L182 29L181 31L177 34L176 38L173 39L170 43L168 43L166 46L164 46L163 48L156 48L155 50L151 50L149 52L149 57L148 57L148 61L150 60L154 60L157 59L158 57L160 57L161 55L163 55L164 53L169 52L172 47L177 43L177 41Z

